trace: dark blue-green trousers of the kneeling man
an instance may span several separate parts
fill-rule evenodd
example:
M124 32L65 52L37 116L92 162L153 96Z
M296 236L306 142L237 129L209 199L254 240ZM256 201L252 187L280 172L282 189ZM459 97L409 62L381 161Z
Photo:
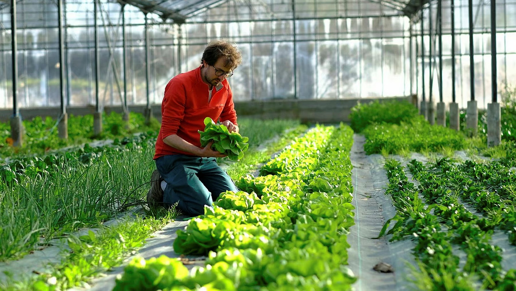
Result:
M163 202L178 203L185 215L204 214L204 205L213 206L221 193L238 191L215 158L168 155L156 159L156 168L167 182Z

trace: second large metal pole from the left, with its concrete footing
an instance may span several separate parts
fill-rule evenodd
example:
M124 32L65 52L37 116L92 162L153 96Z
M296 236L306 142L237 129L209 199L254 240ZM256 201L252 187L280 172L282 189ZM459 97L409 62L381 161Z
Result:
M58 134L61 139L68 139L68 114L66 112L65 93L65 38L63 36L63 1L57 1L57 23L59 25L59 89L61 93L61 113Z

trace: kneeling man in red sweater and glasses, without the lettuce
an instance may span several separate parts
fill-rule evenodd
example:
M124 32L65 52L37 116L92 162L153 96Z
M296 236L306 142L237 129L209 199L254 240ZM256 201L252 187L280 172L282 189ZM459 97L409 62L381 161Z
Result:
M156 170L151 176L149 203L165 206L178 203L185 215L204 214L204 206L225 191L237 191L216 158L225 157L211 148L201 148L198 130L204 118L219 121L230 132L238 132L233 93L227 78L241 63L235 44L212 41L204 49L197 69L179 74L165 87L162 125L156 141Z

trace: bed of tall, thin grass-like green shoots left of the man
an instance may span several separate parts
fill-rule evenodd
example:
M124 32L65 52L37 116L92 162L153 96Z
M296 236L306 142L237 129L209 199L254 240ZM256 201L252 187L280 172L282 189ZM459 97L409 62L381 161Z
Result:
M140 200L155 168L154 141L104 150L85 162L60 159L41 175L0 183L0 261L21 258L55 236L96 227ZM60 156L63 157L63 156Z

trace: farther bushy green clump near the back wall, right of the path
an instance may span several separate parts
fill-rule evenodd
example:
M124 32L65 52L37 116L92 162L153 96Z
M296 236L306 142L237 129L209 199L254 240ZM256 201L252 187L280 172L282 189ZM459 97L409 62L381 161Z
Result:
M400 124L408 122L418 115L417 108L409 102L374 101L369 104L358 103L351 108L350 126L355 132L362 132L375 123Z

